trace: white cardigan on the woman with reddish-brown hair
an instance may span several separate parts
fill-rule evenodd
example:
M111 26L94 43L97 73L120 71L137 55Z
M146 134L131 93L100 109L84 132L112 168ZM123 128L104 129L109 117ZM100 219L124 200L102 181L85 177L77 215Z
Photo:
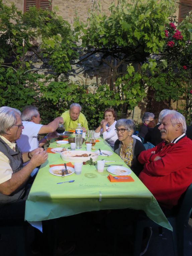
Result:
M99 133L94 133L94 136L97 138L100 135L103 135L103 140L106 140L111 147L114 147L115 141L118 139L117 133L115 132L115 123L117 121L114 121L113 124L110 126L106 125L106 132L103 132L103 129Z

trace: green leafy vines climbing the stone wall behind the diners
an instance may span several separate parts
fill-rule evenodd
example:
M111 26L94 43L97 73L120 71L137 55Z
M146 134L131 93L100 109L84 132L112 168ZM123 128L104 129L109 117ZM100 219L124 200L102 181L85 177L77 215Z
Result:
M176 41L169 26L170 22L176 24L174 0L119 0L109 11L106 16L98 3L87 24L77 18L73 30L55 10L30 8L22 14L14 4L8 7L0 0L1 105L20 110L36 105L42 123L48 123L78 102L92 129L107 107L126 112L146 96L147 88L154 88L156 101L184 97L182 111L190 119L191 16L177 27L183 40ZM79 39L81 47L77 47ZM173 48L167 46L170 40L175 41ZM95 85L90 93L89 86L61 76L72 64L97 53L112 70L110 86ZM34 58L41 61L44 73L34 69ZM123 63L127 64L124 73L120 69Z

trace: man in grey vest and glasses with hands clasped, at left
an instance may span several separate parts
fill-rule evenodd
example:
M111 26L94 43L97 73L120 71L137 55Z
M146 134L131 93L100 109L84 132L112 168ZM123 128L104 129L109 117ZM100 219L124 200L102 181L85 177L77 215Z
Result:
M47 159L46 151L37 148L21 153L16 140L24 129L21 112L0 107L0 219L23 220L25 200L29 192L27 181L32 170ZM23 162L28 162L23 167Z

